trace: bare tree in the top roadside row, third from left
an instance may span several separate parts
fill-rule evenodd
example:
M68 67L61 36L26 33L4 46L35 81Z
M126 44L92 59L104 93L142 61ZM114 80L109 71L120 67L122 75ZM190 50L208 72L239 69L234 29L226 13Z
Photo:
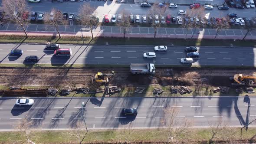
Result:
M79 15L80 15L80 23L85 26L89 26L90 31L92 33L93 26L98 25L98 18L97 12L94 10L93 7L90 6L89 3L85 3L81 5L79 8ZM92 33L92 39L93 39Z

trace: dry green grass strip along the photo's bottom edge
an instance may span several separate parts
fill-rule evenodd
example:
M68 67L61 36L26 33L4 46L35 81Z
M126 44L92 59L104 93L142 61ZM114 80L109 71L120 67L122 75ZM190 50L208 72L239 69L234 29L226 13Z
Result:
M191 141L208 141L211 137L210 128L194 128L190 129L192 132L187 135L180 135L176 139ZM233 132L230 139L240 140L240 128L231 128ZM167 140L166 129L119 129L119 130L89 130L84 143L113 143L124 142L128 137L130 142L165 142ZM78 143L78 139L72 135L75 131L33 131L30 139L35 143ZM249 139L256 133L256 128L249 128L243 131L242 139ZM83 135L82 135L83 136ZM226 138L226 137L224 137ZM17 131L0 132L0 143L15 143L26 139ZM220 139L219 139L220 140ZM226 140L226 139L225 139ZM21 142L21 141L20 141Z

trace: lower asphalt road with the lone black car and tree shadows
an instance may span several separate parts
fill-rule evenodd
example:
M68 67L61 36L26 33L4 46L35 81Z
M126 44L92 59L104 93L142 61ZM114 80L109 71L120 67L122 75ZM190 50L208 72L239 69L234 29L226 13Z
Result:
M194 127L209 127L220 118L241 127L256 118L256 98L34 98L32 107L16 106L15 98L0 98L0 130L11 130L26 115L35 128L72 128L85 117L88 128L158 128L164 108L177 107L175 118L188 118ZM245 102L246 101L246 102ZM82 115L82 102L85 102ZM137 116L122 115L122 108L137 108ZM256 126L253 123L251 126Z

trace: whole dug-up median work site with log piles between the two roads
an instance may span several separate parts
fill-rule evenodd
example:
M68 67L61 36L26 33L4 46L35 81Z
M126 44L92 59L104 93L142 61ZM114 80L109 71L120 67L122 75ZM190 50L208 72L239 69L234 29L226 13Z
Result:
M1 96L253 96L256 69L2 68Z

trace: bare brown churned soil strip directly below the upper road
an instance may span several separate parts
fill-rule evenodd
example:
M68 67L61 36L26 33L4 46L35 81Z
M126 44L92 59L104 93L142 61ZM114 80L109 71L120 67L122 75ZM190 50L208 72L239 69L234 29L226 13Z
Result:
M155 76L131 75L129 68L96 69L96 68L1 68L0 85L7 86L42 86L62 87L92 84L92 77L96 72L115 72L110 85L212 85L230 86L232 77L236 73L254 75L256 69L199 69L175 68L157 69Z

